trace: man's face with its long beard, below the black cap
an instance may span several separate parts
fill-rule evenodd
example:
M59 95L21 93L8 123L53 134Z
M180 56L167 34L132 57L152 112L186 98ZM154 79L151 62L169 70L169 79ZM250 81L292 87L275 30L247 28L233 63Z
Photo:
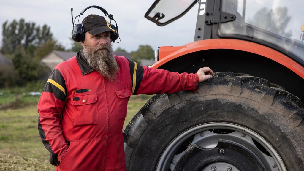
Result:
M119 68L114 57L110 32L98 35L87 32L85 33L85 41L81 42L81 45L83 46L82 54L88 64L106 79L116 82Z

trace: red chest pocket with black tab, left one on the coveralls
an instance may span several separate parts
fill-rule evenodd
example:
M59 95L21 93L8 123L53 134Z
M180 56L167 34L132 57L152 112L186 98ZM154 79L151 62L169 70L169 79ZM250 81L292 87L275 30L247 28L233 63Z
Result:
M71 97L73 105L73 126L98 124L97 94Z

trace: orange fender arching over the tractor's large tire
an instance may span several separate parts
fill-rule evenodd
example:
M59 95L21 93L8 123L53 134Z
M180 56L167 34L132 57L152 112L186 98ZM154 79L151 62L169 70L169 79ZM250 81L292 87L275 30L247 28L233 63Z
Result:
M304 79L304 67L288 56L261 44L236 39L209 39L194 41L184 46L163 46L158 52L159 61L151 67L159 68L182 55L209 49L233 49L258 54L284 65Z

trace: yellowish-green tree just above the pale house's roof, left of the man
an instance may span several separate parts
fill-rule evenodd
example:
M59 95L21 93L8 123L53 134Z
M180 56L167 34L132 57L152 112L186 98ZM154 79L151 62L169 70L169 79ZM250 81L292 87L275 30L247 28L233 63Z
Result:
M56 50L56 51L64 51L65 48L57 43L55 40L48 40L46 43L42 44L40 47L37 47L35 51L35 59L36 60L41 60L45 55L50 53L51 51Z

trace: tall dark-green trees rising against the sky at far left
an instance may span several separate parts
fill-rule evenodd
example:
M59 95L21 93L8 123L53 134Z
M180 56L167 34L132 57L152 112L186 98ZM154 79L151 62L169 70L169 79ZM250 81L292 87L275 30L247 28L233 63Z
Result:
M0 49L2 54L13 54L20 44L26 50L33 45L30 47L30 51L33 51L33 47L41 46L47 40L53 40L53 34L49 26L43 25L40 28L40 26L36 26L36 23L26 23L24 19L19 21L14 19L11 23L8 23L8 20L5 21L2 24L2 36L2 47Z

